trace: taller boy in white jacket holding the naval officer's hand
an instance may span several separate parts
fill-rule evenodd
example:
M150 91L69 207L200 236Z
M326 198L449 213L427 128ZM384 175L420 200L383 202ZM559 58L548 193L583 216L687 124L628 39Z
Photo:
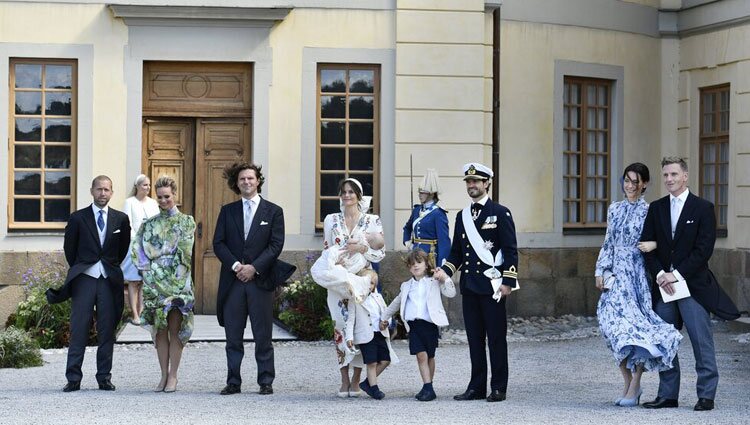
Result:
M437 395L432 388L435 376L435 350L438 346L438 326L448 326L448 317L440 298L442 293L448 298L456 296L456 287L450 277L442 281L432 277L427 253L415 249L406 257L406 264L412 278L401 284L401 292L391 302L385 312L385 323L399 312L404 326L409 332L409 352L417 356L419 373L422 375L422 389L415 396L419 401L434 400Z

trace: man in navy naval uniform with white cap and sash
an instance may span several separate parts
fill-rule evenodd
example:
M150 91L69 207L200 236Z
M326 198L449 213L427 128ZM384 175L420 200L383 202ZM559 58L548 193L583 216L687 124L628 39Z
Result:
M508 208L487 194L493 172L470 163L464 165L466 191L472 204L456 216L450 254L438 269L449 276L461 269L461 298L466 337L471 356L471 380L455 400L479 400L487 395L487 353L490 351L490 395L503 401L508 387L508 329L505 301L517 286L516 227Z

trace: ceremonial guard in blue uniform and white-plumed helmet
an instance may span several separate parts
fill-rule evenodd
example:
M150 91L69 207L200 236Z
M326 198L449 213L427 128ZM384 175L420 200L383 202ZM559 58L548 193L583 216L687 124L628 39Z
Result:
M432 168L419 185L419 202L404 226L404 245L427 253L433 267L443 264L450 250L447 211L438 206L438 174Z

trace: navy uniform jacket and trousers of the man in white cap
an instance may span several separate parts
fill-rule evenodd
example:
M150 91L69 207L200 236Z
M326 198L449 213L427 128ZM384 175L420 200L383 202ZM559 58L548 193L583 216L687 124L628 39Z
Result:
M456 215L453 244L442 268L449 276L461 270L461 299L471 356L471 380L467 389L475 390L478 395L484 395L487 391L487 340L492 374L490 389L505 393L508 387L508 324L505 298L500 302L492 298L492 284L484 275L484 271L490 266L483 263L474 252L464 230L461 214L459 211ZM481 239L492 243L490 252L493 257L502 250L503 263L497 269L502 273L503 285L515 287L518 251L516 226L510 210L487 198L479 216L474 220L474 225Z

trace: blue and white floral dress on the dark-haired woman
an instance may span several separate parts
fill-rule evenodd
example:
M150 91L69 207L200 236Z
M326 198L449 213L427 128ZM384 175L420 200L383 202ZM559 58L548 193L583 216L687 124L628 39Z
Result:
M596 262L596 276L615 275L612 288L602 292L596 314L599 329L619 365L635 371L672 368L682 335L652 309L643 255L638 249L648 203L614 202L607 212L607 234Z

